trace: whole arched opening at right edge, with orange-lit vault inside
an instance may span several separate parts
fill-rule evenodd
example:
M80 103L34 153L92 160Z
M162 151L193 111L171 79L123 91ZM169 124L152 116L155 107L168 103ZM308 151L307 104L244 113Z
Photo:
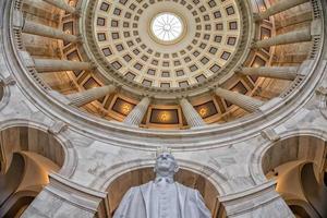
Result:
M326 142L314 136L294 136L271 145L262 159L267 179L295 217L326 217Z

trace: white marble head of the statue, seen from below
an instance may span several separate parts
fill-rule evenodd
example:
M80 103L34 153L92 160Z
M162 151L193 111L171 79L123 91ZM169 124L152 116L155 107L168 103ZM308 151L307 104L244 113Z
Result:
M174 157L167 148L157 154L154 171L160 177L173 177L179 171Z

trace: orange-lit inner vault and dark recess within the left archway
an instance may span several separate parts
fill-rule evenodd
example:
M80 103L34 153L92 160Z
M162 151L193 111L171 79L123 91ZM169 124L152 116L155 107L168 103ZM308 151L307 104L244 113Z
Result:
M59 167L51 160L29 152L13 154L10 170L0 177L0 217L17 217L48 184L49 171Z

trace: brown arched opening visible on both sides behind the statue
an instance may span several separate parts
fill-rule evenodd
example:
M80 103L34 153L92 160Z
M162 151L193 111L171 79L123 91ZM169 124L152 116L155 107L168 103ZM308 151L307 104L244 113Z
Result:
M133 186L145 184L155 179L153 168L143 168L126 172L118 177L107 189L109 195L109 209L113 215L123 195ZM183 185L196 189L202 194L207 208L211 211L213 217L217 217L218 191L205 177L190 170L180 169L174 180Z

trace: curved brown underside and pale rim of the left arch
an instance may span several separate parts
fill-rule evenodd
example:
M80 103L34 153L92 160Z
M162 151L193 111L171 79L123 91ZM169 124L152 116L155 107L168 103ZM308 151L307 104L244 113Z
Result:
M7 172L14 153L32 152L50 159L61 168L62 174L70 177L76 166L75 150L69 141L47 130L48 126L31 121L28 125L22 121L9 121L0 131L1 173Z

